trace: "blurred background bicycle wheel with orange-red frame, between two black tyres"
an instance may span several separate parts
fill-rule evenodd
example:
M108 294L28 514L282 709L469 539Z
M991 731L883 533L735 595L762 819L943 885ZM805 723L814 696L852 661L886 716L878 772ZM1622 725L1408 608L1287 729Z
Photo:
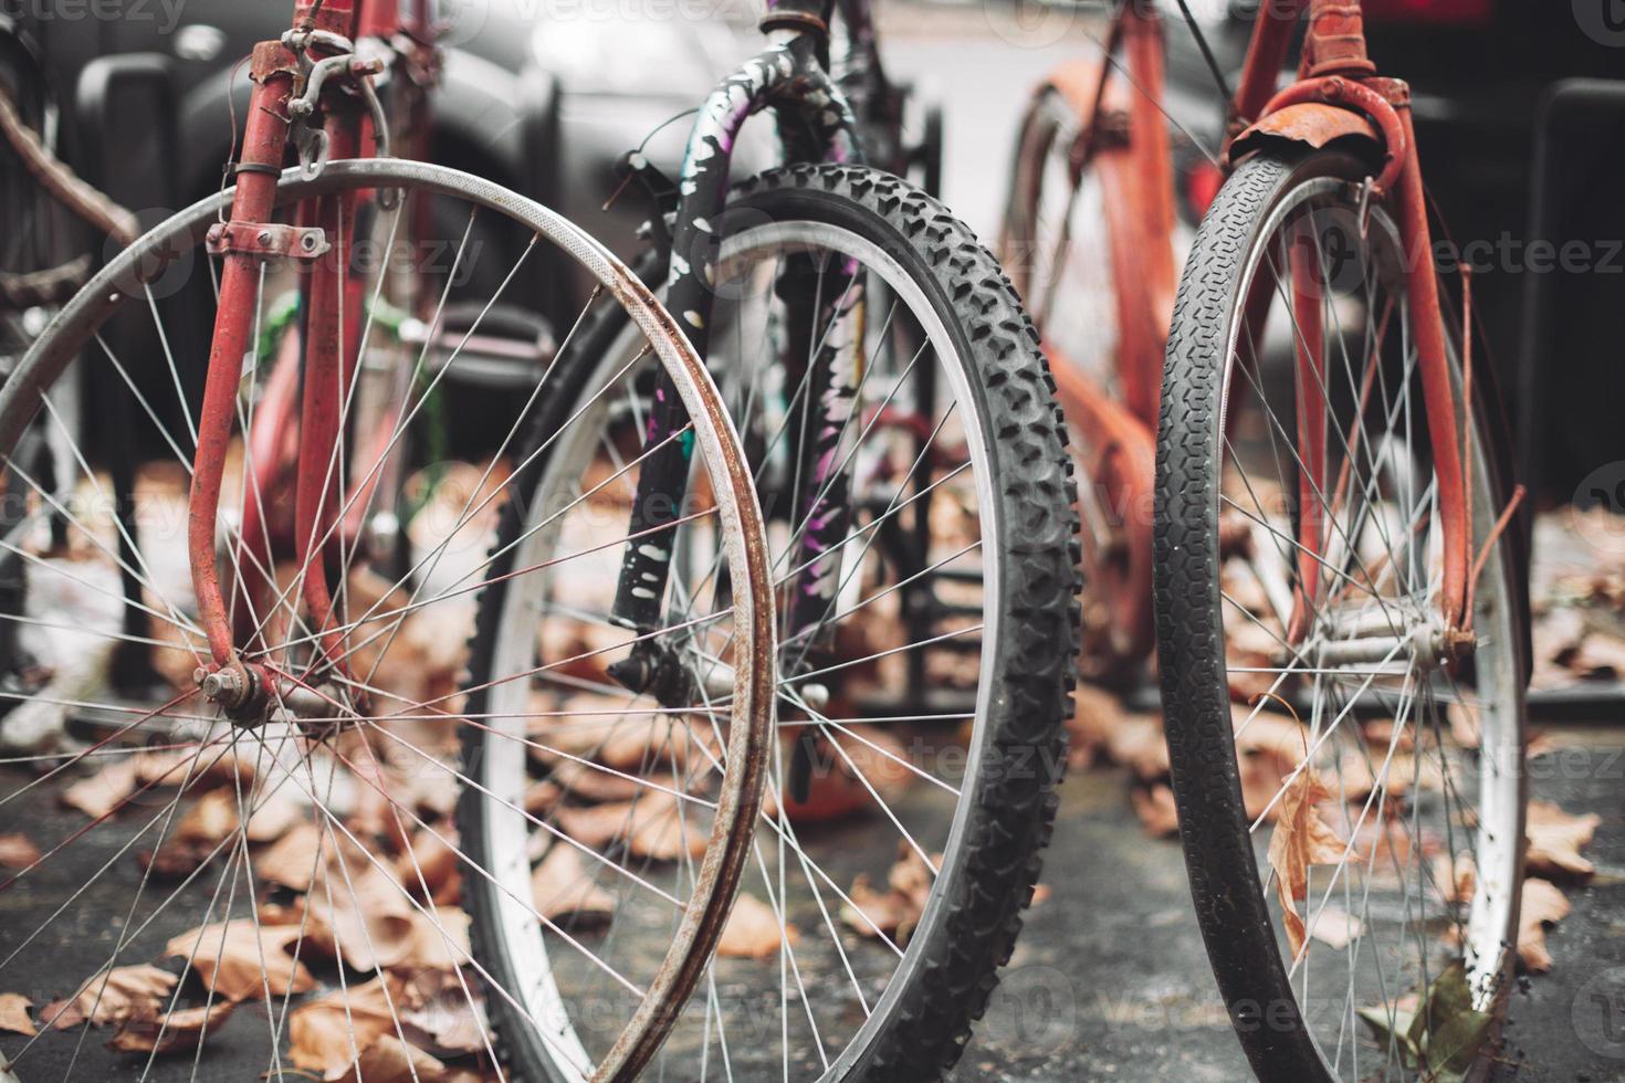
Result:
M1121 80L1107 83L1103 122L1124 115L1123 89ZM1001 261L1043 338L1082 474L1079 664L1089 679L1124 680L1134 679L1152 649L1150 419L1176 226L1172 213L1155 224L1139 221L1157 206L1172 211L1172 203L1146 198L1144 151L1124 143L1124 133L1102 132L1094 154L1074 166L1087 119L1056 88L1029 106L1016 143ZM1124 292L1126 283L1134 289Z

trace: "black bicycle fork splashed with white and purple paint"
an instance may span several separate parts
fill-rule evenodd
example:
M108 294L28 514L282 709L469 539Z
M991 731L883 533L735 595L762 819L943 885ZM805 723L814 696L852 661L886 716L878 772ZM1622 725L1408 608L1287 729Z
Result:
M715 224L723 218L730 154L744 120L765 107L782 110L780 130L786 135L790 161L858 157L852 110L817 57L816 32L783 32L772 49L748 62L707 97L689 136L671 240L666 307L702 357L710 344L712 291L722 244ZM795 565L785 570L795 598L783 630L786 641L812 630L835 599L840 568L835 547L850 521L843 484L845 460L850 456L842 453L842 438L850 432L863 330L861 283L852 281L848 268L837 268L826 278L824 297L816 304L788 283L790 274L780 273L780 296L790 305L791 339L798 325L804 331L800 356L811 372L804 438L796 440L793 450L800 485L790 513L803 528L791 550ZM819 341L812 341L814 333ZM796 351L793 344L788 349ZM801 409L796 406L798 412ZM676 390L665 373L658 373L629 529L637 541L627 546L613 611L613 619L640 638L629 658L611 666L611 675L632 692L647 692L671 703L692 701L687 675L676 659L674 645L653 633L661 627L674 523L682 518L687 495L692 450L687 424ZM806 649L800 654L804 658Z

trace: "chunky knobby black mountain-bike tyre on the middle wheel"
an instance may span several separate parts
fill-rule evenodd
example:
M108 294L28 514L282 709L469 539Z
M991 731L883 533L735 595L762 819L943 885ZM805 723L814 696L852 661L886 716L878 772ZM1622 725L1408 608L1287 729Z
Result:
M936 1080L959 1060L970 1028L988 1005L998 969L1009 961L1038 880L1042 849L1055 818L1055 786L1066 750L1066 718L1077 638L1077 547L1071 460L1066 429L1055 403L1055 383L1038 338L996 260L949 211L912 185L871 169L795 166L744 180L731 195L730 221L743 227L769 221L816 221L842 227L882 247L921 287L972 360L972 403L986 435L996 485L998 598L1004 636L986 643L996 651L986 760L964 800L972 802L962 835L962 859L944 864L939 903L908 943L908 960L894 982L904 982L878 1023L837 1060L830 1078L904 1083ZM640 266L640 273L648 266ZM618 313L618 309L609 309ZM618 317L608 321L619 323ZM538 411L533 440L569 417L598 354L619 326L590 326L559 359L556 393ZM965 419L970 425L970 417ZM531 445L535 447L535 443ZM531 464L541 474L543 460ZM518 489L525 492L525 489ZM520 529L515 508L502 516L497 549ZM507 585L497 580L479 606L473 645L473 684L489 667ZM470 703L479 711L478 703ZM470 734L470 742L474 736ZM968 783L968 781L967 781ZM462 838L478 856L483 846L483 802L465 800ZM484 890L483 890L484 888ZM473 950L502 979L504 961L483 942L479 908L494 908L494 890L473 883L465 906L473 922ZM890 995L890 992L889 992ZM528 1025L510 1005L489 1005L499 1052L515 1078L548 1078L546 1057ZM861 1047L860 1044L861 1042Z

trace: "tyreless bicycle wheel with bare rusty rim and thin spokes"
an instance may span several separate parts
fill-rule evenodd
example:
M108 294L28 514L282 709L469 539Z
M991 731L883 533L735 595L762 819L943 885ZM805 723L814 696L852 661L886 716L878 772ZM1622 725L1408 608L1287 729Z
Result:
M276 281L296 273L268 265L254 299L260 346L237 399L218 552L231 604L249 609L252 635L237 649L268 682L263 711L226 718L198 693L193 667L208 659L208 649L185 560L177 559L185 552L197 388L182 377L187 357L174 331L195 325L197 313L176 310L166 289L182 274L216 273L214 257L202 245L231 206L231 193L180 213L112 261L0 390L0 448L21 479L6 500L28 511L0 547L31 570L24 633L41 636L39 656L63 680L72 677L50 697L28 701L63 714L54 742L0 763L0 833L32 835L36 848L0 878L6 914L0 987L65 994L50 1005L47 995L34 997L37 1036L8 1036L8 1065L29 1077L76 1070L125 1077L135 1068L158 1080L294 1072L374 1078L388 1073L380 1064L403 1059L422 1077L429 1075L422 1059L431 1055L478 1070L497 1060L484 1023L497 1005L538 1041L564 1046L572 1036L535 1013L530 982L536 973L526 969L523 935L562 929L590 909L603 916L598 900L572 891L567 869L561 872L572 862L577 870L613 877L627 917L611 922L604 937L569 937L569 950L593 973L614 971L618 987L640 994L614 1018L600 1005L596 1025L613 1036L613 1049L595 1051L578 1075L635 1073L710 956L720 919L708 916L726 913L744 857L739 825L756 817L772 737L772 591L760 511L726 414L692 349L626 268L569 222L496 185L421 162L335 161L315 180L284 174L278 214L294 213L304 200L351 206L359 193L388 190L403 192L401 206L432 196L442 209L455 208L462 232L444 245L390 248L390 265L419 276L434 299L422 326L410 334L379 326L392 320L384 278L395 271L385 261L346 252L344 231L322 257L353 274L336 286L343 304L364 305L361 313L344 309L356 315L353 323L338 321L359 328L353 356L362 375L333 390L344 424L330 456L328 495L341 503L327 536L312 539L318 557L309 567L288 550L289 539L265 533L249 544L240 533L249 507L263 511L284 495L263 490L270 476L255 471L250 435L262 432L257 419L273 398L266 386L276 369L271 352L297 357L301 333L271 333L283 297ZM401 211L384 211L385 235L405 235L395 232L400 218ZM476 221L481 227L494 221L496 229L479 235L505 244L470 244ZM369 235L375 232L359 234ZM618 658L632 638L595 628L583 645L577 625L543 614L504 645L507 669L492 669L488 659L478 687L465 679L474 599L496 576L515 596L543 589L531 583L567 580L575 602L592 607L595 591L614 589L613 575L595 576L596 562L637 544L626 536L626 521L618 526L616 515L577 498L548 508L552 526L538 533L552 531L566 542L544 562L515 563L510 552L489 550L497 511L512 503L515 479L528 476L518 458L520 424L528 427L548 401L551 372L515 411L520 422L505 432L494 427L483 445L462 451L466 460L413 456L398 464L401 489L434 492L401 524L413 544L405 573L395 575L392 554L369 542L377 508L393 513L411 503L380 492L375 479L396 466L392 458L400 448L429 443L421 427L452 378L447 373L463 359L476 369L515 356L528 364L535 321L509 320L523 326L523 336L505 338L486 313L525 305L523 274L536 260L569 260L598 283L595 299L634 328L640 362L665 370L692 417L679 437L692 442L696 474L705 481L696 487L704 497L689 521L713 547L707 552L726 570L726 583L707 594L704 612L655 635L705 632L731 636L733 645L726 672L696 688L689 703L661 708L668 718L718 719L713 742L726 766L694 805L681 836L684 854L702 869L699 877L642 867L650 846L673 844L660 815L639 817L637 859L624 852L630 825L608 823L609 817L551 836L548 854L526 851L523 843L500 846L499 831L535 818L544 800L507 789L507 779L523 776L526 762L544 755L544 727L569 711L543 700L540 690L515 703L510 716L483 711L481 700L504 687L531 690L549 677L583 680L585 671ZM497 266L486 268L486 261ZM486 270L496 273L483 278ZM473 281L497 286L481 309L465 307L453 321L447 299L455 287L458 304L466 305ZM315 289L294 286L296 292ZM310 302L299 292L292 304L309 310ZM150 338L132 338L132 320ZM448 341L442 325L453 323ZM124 338L110 333L115 325ZM138 367L141 354L119 347L128 341L151 343L146 357L161 365L158 372ZM31 419L58 424L54 393L81 352L78 364L96 378L133 390L146 419L138 445L140 529L127 539L135 554L128 568L115 547L117 520L99 500L102 468L93 455L76 450L75 500L60 508L29 482L13 455L36 424ZM367 372L403 357L406 373L372 380ZM369 382L374 386L364 386ZM393 388L393 398L385 388ZM362 398L379 408L369 416L384 422L359 416ZM569 442L577 432L577 419L562 417L551 437ZM289 430L281 437L299 438ZM356 476L362 463L370 466ZM622 469L635 477L637 464L634 453ZM70 528L60 547L41 528L54 510ZM244 589L245 567L271 585L263 599ZM120 572L140 576L135 604L150 617L146 635L119 628ZM328 578L343 635L338 653L317 646L322 636L299 609L301 576L310 573ZM171 682L154 701L132 703L106 687L107 646L132 641L151 649L154 667ZM486 740L468 742L465 760L463 737L473 731ZM673 805L681 794L668 773L635 762L587 773L601 786L670 796ZM58 800L70 810L58 810ZM491 831L460 838L458 800L465 809L484 805ZM500 893L496 911L483 888ZM614 929L635 924L632 916L645 906L682 919L663 924L656 938L640 937L637 951L618 955ZM471 953L470 935L483 945L479 956ZM96 1028L107 1028L109 1047L101 1038L88 1041Z

